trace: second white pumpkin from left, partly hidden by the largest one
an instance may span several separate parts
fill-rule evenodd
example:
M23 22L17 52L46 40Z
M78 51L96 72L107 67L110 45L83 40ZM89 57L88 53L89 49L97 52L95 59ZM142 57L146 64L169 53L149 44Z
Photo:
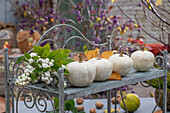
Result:
M113 65L109 60L101 58L100 53L98 53L98 58L92 58L89 62L96 66L95 81L105 81L111 75Z

